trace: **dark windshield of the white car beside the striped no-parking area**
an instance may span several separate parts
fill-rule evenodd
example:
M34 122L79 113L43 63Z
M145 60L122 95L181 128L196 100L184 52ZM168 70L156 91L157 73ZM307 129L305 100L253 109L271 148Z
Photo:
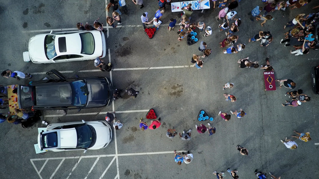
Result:
M95 144L95 129L90 125L76 127L78 142L77 148L90 148Z

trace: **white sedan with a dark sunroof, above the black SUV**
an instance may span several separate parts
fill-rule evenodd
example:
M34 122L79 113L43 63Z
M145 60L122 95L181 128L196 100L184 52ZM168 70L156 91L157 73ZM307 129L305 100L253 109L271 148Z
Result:
M39 34L30 38L24 61L50 64L92 60L106 56L106 41L102 31L71 31Z

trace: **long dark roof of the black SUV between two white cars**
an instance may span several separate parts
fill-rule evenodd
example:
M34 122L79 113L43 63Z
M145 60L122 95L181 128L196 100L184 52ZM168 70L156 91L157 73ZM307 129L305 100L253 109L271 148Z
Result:
M46 83L35 86L36 106L71 105L70 83Z

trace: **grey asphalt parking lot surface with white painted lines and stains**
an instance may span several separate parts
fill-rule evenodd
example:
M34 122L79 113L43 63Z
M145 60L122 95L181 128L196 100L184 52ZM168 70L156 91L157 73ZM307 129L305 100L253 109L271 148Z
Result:
M103 120L105 113L115 111L115 117L123 122L123 128L114 131L107 148L87 151L45 152L36 154L37 127L24 129L20 125L7 122L1 124L1 156L3 167L0 178L52 179L52 178L105 178L105 179L155 179L155 178L205 178L215 177L214 171L225 172L227 168L237 169L240 178L256 178L254 170L272 172L282 178L316 179L319 175L318 144L318 99L311 90L310 68L318 65L318 52L294 56L289 54L291 47L284 47L280 39L286 30L283 26L299 13L315 12L312 7L319 2L312 1L301 9L275 11L275 20L267 21L264 27L260 21L250 22L246 15L256 2L242 0L236 17L242 19L239 27L239 43L246 48L237 54L223 54L219 48L226 36L219 32L215 16L219 9L197 10L191 22L204 21L210 25L213 34L206 38L199 36L212 49L212 54L204 58L204 67L197 70L190 63L192 54L198 52L198 45L188 46L185 41L177 41L178 26L171 32L167 30L170 18L178 18L179 13L169 9L162 18L163 25L154 38L148 39L143 32L140 16L147 11L149 18L157 10L157 1L144 0L140 9L127 0L129 15L121 15L122 24L117 28L105 26L107 15L105 1L6 1L0 5L1 21L0 48L2 71L19 70L34 74L33 80L46 77L45 72L56 69L72 77L106 76L112 79L114 88L133 87L140 91L137 98L123 95L108 107L95 109L69 110L66 116L55 111L44 111L48 123L78 120ZM211 5L212 6L212 5ZM167 6L168 7L168 6ZM111 61L114 70L101 72L93 61L68 62L59 64L33 64L23 61L22 53L28 50L29 38L49 31L72 31L78 22L92 23L100 19L108 30L108 55L104 61ZM109 13L111 14L111 13ZM284 17L283 17L284 16ZM10 24L10 25L9 25ZM268 47L259 43L248 43L248 39L259 31L271 31L274 37ZM200 33L199 33L200 34ZM200 34L201 35L201 34ZM264 91L263 70L241 69L238 59L249 57L252 61L264 64L269 57L275 69L276 79L293 79L298 89L303 89L311 101L299 107L282 107L289 100L285 97L286 88ZM1 78L2 85L26 84L28 79L17 80ZM226 82L233 82L233 89L222 90ZM223 93L237 97L234 103L225 101ZM145 118L147 111L154 108L162 125L156 130L141 131L139 119ZM242 108L247 115L224 121L218 112ZM197 114L204 109L211 117L211 125L216 134L199 134ZM6 113L6 110L2 110ZM150 120L145 120L150 124ZM203 124L207 124L204 121ZM207 125L206 125L207 126ZM192 128L192 139L182 141L178 136L166 137L166 130L174 127L178 132ZM295 140L298 148L287 149L280 139L293 135L293 130L310 132L312 141ZM249 155L242 156L236 150L241 145L248 148ZM194 160L181 166L174 162L173 151L191 151Z

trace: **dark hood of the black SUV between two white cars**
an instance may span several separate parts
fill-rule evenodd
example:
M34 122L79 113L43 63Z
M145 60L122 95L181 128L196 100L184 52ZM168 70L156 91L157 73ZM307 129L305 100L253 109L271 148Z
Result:
M109 100L109 85L105 79L86 79L89 89L89 100L86 107L106 106Z

